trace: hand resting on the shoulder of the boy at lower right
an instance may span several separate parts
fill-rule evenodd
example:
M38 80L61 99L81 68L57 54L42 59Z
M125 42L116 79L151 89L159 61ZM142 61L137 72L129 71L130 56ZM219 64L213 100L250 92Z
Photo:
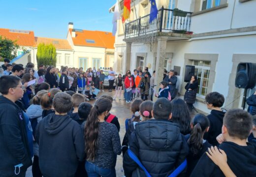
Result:
M219 167L227 164L226 153L222 149L218 149L216 146L208 148L206 151L207 156Z

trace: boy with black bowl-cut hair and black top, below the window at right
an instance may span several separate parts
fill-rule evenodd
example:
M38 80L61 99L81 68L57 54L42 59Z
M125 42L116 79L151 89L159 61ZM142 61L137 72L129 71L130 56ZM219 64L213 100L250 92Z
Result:
M210 128L204 134L204 140L207 140L213 146L217 146L218 142L216 137L222 133L223 118L225 112L221 109L225 101L222 94L218 92L211 92L205 96L205 104L211 114L207 116L210 121Z

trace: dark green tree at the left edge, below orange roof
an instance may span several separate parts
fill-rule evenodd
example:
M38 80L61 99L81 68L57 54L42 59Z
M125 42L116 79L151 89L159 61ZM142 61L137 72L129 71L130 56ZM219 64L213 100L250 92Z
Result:
M0 61L3 61L3 59L14 59L17 57L18 49L20 49L20 46L16 44L16 41L0 36Z

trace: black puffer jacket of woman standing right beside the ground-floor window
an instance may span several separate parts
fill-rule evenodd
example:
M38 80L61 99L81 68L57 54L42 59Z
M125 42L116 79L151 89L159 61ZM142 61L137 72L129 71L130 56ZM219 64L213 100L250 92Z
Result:
M187 83L187 85L185 86L186 92L184 95L184 101L186 103L193 104L195 102L197 88L198 88L198 81L195 81L192 84L190 82Z

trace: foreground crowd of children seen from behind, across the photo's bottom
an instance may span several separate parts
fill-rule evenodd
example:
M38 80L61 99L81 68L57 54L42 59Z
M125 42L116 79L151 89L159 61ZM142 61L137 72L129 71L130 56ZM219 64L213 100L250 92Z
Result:
M25 112L20 78L0 77L0 92L2 176L25 177L32 165L36 177L115 177L122 150L126 177L256 176L256 117L225 112L218 92L205 97L210 115L192 119L180 98L134 99L122 145L109 95L91 105L80 93L37 88Z

